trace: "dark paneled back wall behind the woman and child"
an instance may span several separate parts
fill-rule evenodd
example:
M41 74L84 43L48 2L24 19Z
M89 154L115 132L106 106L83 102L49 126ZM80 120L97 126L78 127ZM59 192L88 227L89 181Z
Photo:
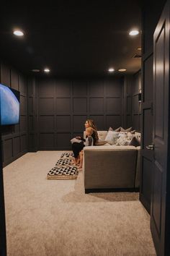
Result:
M98 130L120 127L122 86L120 78L37 80L38 150L70 149L86 119L94 119Z

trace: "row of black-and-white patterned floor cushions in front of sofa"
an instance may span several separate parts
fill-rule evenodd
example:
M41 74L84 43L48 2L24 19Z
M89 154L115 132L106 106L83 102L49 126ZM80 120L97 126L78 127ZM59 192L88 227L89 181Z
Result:
M48 179L77 179L78 173L73 153L62 153L55 166L48 171Z

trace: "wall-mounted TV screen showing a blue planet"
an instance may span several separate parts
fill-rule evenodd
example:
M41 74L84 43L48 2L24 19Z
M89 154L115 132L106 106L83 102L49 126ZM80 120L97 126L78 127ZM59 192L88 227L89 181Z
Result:
M19 91L0 84L1 125L19 124Z

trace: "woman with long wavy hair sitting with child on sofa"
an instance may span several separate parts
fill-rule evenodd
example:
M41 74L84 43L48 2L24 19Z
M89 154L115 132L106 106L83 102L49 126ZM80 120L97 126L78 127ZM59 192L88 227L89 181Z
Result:
M85 124L84 124L85 128L91 127L93 128L94 132L92 133L91 137L93 138L93 145L96 144L97 140L99 140L98 134L97 134L97 126L96 124L94 124L94 121L92 119L87 119ZM73 155L75 158L75 163L78 164L79 163L79 153L81 152L81 150L84 148L84 138L83 137L76 137L76 139L81 140L81 142L73 142L72 144L72 150L73 150Z

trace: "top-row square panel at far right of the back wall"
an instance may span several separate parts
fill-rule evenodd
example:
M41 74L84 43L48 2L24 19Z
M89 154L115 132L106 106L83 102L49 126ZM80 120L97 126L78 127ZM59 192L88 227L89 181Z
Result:
M122 96L122 80L106 80L106 95L107 97L121 97Z

